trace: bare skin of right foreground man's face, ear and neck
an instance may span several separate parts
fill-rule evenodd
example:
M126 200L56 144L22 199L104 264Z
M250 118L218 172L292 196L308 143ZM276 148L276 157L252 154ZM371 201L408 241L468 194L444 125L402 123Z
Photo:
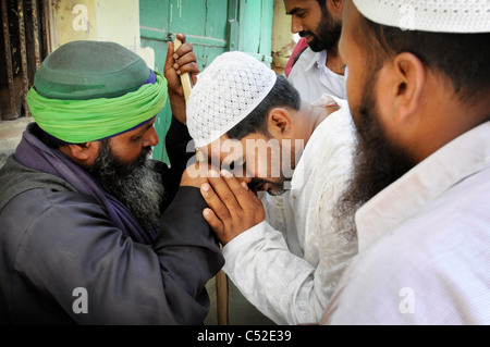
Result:
M360 13L352 1L345 1L339 50L350 69L346 88L355 123L359 117L368 66L368 54L356 40L362 35L359 18ZM462 101L448 77L408 52L384 62L373 92L385 140L399 144L416 163L487 121L487 100Z

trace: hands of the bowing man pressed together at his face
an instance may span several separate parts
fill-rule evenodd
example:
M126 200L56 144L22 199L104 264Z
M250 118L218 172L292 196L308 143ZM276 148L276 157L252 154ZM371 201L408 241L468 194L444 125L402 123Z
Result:
M226 171L209 172L209 184L204 184L201 194L210 207L203 215L212 227L222 245L259 224L266 211L257 196L243 182L240 183Z

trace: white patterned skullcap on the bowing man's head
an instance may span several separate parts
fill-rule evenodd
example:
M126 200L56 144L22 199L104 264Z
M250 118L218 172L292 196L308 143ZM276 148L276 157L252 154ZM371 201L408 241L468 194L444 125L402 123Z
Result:
M226 52L198 76L187 100L187 127L196 147L220 138L267 97L275 73L252 55Z

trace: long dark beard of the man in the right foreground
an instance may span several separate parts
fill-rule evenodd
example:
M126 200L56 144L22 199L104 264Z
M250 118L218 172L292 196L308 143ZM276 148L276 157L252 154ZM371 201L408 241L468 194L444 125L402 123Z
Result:
M356 231L356 211L416 164L403 147L388 139L379 122L378 108L372 98L376 75L372 75L367 79L359 111L356 115L353 113L357 128L353 176L334 212L336 227L351 230L351 234Z

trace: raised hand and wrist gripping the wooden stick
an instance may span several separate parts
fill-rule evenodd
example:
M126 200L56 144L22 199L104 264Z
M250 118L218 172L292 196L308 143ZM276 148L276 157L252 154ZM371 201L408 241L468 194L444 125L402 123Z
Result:
M181 40L182 46L174 52L173 42L167 42L168 50L163 73L168 83L172 113L181 123L186 124L184 88L180 76L189 73L193 83L196 84L199 66L197 65L197 57L193 51L193 45L185 41L184 34L177 34L176 37Z

